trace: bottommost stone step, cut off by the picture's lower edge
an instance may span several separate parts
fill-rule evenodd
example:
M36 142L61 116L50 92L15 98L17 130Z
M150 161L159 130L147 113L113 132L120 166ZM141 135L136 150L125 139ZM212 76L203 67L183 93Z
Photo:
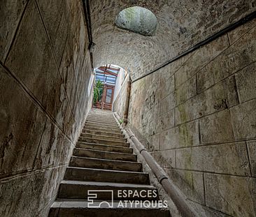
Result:
M101 208L90 208L86 200L58 200L52 204L49 217L169 217L168 209L155 207L126 207L118 206L120 202L113 202L110 208L106 202L94 202L94 205ZM129 204L129 203L127 203ZM154 202L155 204L155 202ZM161 206L161 204L159 204ZM159 207L158 206L158 207Z

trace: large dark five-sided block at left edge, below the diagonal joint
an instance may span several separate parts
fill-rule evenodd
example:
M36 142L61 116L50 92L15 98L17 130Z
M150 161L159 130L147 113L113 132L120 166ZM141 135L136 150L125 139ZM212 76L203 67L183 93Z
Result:
M1 66L0 92L0 177L6 177L34 168L46 118Z

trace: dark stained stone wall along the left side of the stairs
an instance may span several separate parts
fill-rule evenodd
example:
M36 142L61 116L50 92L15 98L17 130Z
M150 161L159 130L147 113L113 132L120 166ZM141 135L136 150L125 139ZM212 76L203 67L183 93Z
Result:
M48 216L90 110L78 0L0 7L0 216Z

